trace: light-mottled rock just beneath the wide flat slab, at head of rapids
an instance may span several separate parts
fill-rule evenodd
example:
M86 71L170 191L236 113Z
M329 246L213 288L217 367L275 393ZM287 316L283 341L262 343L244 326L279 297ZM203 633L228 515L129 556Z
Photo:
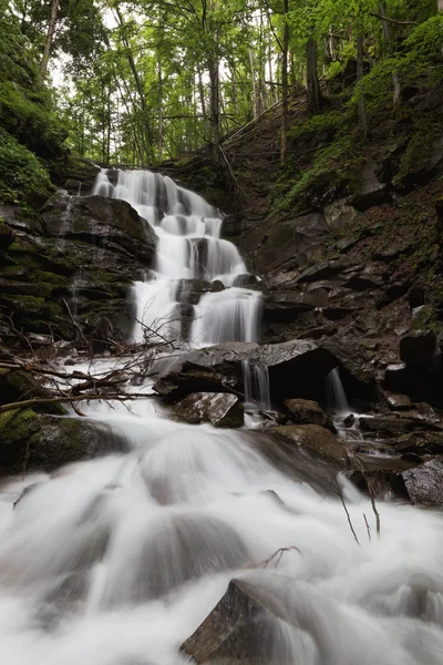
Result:
M235 395L195 392L174 407L181 420L192 424L210 422L214 427L241 427L243 405Z

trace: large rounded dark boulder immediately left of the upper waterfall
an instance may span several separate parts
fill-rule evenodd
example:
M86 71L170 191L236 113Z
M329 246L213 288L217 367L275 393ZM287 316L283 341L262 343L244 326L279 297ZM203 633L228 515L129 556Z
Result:
M156 235L125 201L68 196L58 192L44 205L42 219L49 236L83 241L130 254L147 267L153 263Z

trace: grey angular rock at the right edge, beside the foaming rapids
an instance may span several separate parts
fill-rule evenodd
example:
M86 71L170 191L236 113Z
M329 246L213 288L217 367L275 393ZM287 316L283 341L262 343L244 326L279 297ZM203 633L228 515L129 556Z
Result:
M401 474L412 503L443 505L443 461L431 460Z

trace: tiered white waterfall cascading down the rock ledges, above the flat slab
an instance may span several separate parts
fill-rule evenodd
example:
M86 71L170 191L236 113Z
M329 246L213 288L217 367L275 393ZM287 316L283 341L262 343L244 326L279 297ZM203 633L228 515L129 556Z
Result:
M258 339L261 296L233 287L247 268L237 247L220 238L223 218L216 208L171 177L150 171L101 170L94 194L127 201L158 238L153 270L133 288L135 341L142 341L146 327L158 337L196 346ZM189 306L183 300L186 289L178 286L193 279L222 282L225 290L207 293ZM190 325L183 323L184 305Z

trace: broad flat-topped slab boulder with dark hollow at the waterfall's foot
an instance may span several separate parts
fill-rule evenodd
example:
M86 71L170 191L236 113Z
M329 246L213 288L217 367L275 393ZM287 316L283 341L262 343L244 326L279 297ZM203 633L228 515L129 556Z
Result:
M190 392L244 390L245 362L266 367L272 400L310 398L337 366L328 350L312 341L293 339L282 344L233 342L182 354L154 364L158 372L154 390L179 399Z

